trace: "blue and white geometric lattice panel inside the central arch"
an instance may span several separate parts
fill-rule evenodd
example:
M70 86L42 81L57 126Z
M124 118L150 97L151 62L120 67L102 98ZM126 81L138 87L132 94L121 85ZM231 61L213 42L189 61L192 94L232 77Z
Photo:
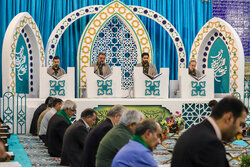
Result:
M100 52L106 53L106 63L121 67L122 89L133 85L133 71L137 64L137 46L132 33L122 20L114 16L100 29L93 44L91 62Z

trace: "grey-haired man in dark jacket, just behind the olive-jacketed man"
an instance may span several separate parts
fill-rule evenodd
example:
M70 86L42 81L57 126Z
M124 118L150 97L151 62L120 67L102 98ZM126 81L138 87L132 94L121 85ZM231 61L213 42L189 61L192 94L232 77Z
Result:
M114 125L119 123L120 117L125 110L122 105L113 106L107 113L107 118L91 130L85 140L81 162L82 167L95 167L95 156L100 141Z

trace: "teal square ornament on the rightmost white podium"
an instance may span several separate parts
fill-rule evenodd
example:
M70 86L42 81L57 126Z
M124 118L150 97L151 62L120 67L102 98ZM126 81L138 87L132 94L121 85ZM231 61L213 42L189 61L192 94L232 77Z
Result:
M206 81L191 81L191 96L206 96Z

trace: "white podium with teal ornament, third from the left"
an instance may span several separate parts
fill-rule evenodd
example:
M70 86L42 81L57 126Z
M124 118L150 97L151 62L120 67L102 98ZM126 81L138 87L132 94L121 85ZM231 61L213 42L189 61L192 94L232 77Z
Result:
M169 69L161 68L155 78L145 75L142 71L142 67L134 69L134 97L168 98Z

